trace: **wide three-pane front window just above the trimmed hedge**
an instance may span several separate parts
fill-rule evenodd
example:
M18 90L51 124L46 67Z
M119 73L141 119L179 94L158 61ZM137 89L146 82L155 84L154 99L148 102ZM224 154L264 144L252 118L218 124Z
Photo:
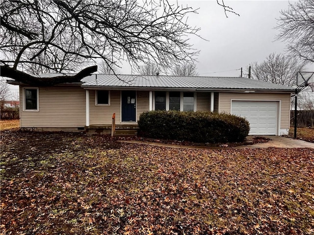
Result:
M155 110L194 111L194 92L155 92Z

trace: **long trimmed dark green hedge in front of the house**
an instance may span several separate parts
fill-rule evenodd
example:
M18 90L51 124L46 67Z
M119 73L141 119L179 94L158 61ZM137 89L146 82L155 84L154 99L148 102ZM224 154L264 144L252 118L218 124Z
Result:
M250 131L245 118L201 111L148 111L138 126L141 137L199 143L241 142Z

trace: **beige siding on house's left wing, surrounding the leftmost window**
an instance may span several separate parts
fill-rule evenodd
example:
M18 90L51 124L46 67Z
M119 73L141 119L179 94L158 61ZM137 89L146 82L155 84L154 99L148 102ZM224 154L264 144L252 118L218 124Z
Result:
M20 87L21 127L85 126L85 90L82 88L39 87L38 111L24 111L23 90Z

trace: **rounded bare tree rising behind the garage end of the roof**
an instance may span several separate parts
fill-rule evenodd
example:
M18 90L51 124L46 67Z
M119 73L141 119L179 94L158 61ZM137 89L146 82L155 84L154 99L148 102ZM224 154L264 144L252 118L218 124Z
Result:
M251 78L276 83L284 86L296 85L296 74L301 71L305 62L282 54L270 54L262 63L251 63ZM246 67L246 75L249 66Z

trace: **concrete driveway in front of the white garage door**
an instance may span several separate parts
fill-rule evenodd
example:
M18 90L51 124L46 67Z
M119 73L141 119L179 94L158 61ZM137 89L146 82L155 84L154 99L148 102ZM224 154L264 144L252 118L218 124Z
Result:
M255 138L256 136L248 136L246 139L250 140ZM268 147L277 147L277 148L314 148L314 143L310 143L307 141L294 140L287 137L282 136L258 136L265 137L270 139L270 141L265 143L256 143L252 145L242 145L234 148L268 148Z

